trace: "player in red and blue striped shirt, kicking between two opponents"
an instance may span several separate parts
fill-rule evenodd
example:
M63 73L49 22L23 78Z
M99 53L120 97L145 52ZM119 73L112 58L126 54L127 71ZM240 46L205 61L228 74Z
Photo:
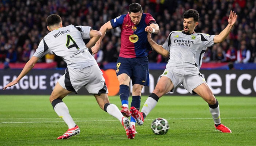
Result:
M102 37L91 48L93 54L98 52L106 31L116 27L121 28L121 47L116 64L116 74L120 85L119 96L123 108L121 112L124 116L134 117L139 114L133 111L140 108L142 88L149 84L147 55L152 49L147 41L147 33L158 34L159 26L152 15L142 12L140 4L132 3L129 5L128 14L120 15L103 24L99 30ZM130 80L132 80L131 112L128 108ZM131 117L131 124L135 128L136 121L133 117Z

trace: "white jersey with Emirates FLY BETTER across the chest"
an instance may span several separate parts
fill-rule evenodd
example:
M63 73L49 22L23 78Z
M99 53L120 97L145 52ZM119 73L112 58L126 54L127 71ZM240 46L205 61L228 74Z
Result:
M214 45L215 35L204 33L185 34L182 31L172 31L167 37L163 48L170 52L166 67L180 66L200 69L206 47Z

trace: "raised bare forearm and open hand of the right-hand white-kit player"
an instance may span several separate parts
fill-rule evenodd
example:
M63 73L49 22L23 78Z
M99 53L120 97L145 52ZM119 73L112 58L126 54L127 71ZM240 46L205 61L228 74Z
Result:
M237 21L237 14L233 11L230 11L229 20L228 20L229 24L227 24L226 28L222 30L221 33L219 33L218 35L215 35L213 39L214 43L223 42L229 35L236 21Z

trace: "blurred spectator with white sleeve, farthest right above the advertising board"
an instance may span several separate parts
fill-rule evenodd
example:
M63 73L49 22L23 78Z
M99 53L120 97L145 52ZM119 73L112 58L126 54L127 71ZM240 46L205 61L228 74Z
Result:
M242 44L240 49L237 51L237 61L236 63L248 63L251 57L250 50L246 49L245 44Z

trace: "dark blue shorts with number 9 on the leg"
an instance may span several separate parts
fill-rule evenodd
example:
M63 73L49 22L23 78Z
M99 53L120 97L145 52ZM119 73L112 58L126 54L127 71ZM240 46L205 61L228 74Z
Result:
M132 85L140 84L144 86L149 85L149 70L148 70L148 58L123 58L119 57L116 64L116 75L122 73L128 74L132 79Z

